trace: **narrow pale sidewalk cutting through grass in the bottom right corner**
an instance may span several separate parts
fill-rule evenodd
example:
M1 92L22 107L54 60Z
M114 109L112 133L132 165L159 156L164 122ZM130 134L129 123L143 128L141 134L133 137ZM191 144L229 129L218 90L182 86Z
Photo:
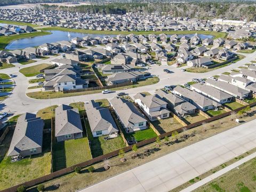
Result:
M210 182L210 181L220 177L221 175L223 175L223 174L225 174L225 173L227 173L227 172L229 172L229 171L231 171L233 169L236 169L236 167L242 165L243 163L245 163L247 161L250 161L251 159L253 159L255 157L256 157L256 152L251 154L251 155L248 155L248 156L242 158L241 160L239 160L239 161L237 161L237 162L235 162L235 163L233 163L233 164L223 168L222 170L220 170L220 171L218 171L216 173L211 174L210 176L202 179L201 181L196 182L195 184L187 187L186 189L181 190L180 192L190 192L190 191L193 191L193 190L197 189L198 187L203 186L207 182Z

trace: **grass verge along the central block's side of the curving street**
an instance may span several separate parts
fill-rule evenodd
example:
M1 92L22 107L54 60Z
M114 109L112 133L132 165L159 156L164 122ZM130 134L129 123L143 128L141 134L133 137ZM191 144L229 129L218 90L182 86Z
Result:
M146 85L151 85L159 82L158 77L152 77L148 78L144 81L138 81L135 82L133 85L128 85L128 86L123 86L123 87L116 87L113 89L110 89L111 91L118 91L118 90L123 90L123 89L131 89L134 87L139 87L139 86L146 86ZM34 99L49 99L50 98L62 98L62 97L72 97L72 96L77 96L77 95L86 95L86 94L93 94L93 93L101 93L102 90L94 90L94 91L83 91L83 92L74 92L74 93L63 93L63 92L31 92L27 93L27 96L30 98Z

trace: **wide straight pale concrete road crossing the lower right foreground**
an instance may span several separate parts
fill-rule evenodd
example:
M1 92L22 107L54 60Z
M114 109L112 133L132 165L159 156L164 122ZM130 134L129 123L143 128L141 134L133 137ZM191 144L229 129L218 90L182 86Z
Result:
M239 125L80 191L169 191L255 148L255 123Z

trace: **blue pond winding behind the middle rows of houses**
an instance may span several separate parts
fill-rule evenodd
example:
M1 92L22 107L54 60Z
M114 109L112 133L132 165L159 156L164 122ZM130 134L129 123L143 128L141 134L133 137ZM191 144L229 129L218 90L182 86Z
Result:
M112 36L115 37L116 35L107 35L107 34L85 34L85 33L74 33L68 31L59 31L59 30L51 30L52 34L45 35L45 36L37 36L37 37L28 37L17 39L11 42L9 45L5 47L7 50L16 50L16 49L25 49L26 47L35 47L42 45L44 43L54 43L58 41L70 41L74 37L84 37L89 35L90 37L104 37L104 36ZM171 35L168 35L171 36ZM182 37L184 35L179 35ZM186 36L192 37L194 34L187 34ZM205 38L212 38L212 35L203 35L198 34L201 39Z

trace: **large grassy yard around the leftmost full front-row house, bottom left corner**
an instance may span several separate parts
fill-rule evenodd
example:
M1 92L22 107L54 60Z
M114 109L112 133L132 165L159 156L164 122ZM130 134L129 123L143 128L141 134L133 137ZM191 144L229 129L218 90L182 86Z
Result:
M10 131L0 147L0 190L17 185L19 183L42 177L51 172L51 153L49 151L49 138L44 135L43 154L24 158L21 161L11 163L7 157L13 131Z

